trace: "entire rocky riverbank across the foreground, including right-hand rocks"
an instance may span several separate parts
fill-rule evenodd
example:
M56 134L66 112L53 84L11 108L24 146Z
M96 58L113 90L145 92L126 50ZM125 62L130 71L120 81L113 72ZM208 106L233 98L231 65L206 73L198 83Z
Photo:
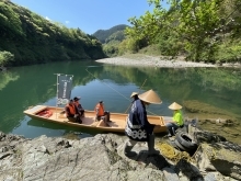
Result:
M170 139L159 138L156 149L160 155L148 156L147 145L140 143L134 147L138 156L127 158L124 135L27 139L0 132L0 180L241 180L241 146L195 127L190 135L198 144L192 157L172 147Z

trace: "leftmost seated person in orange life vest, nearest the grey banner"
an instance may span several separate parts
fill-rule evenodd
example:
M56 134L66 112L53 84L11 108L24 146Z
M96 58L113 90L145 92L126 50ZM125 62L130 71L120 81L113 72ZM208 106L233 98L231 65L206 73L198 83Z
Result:
M65 111L66 111L67 117L70 121L82 123L82 121L80 120L80 115L78 114L78 110L77 110L77 106L76 106L73 100L69 100L69 103L66 105Z

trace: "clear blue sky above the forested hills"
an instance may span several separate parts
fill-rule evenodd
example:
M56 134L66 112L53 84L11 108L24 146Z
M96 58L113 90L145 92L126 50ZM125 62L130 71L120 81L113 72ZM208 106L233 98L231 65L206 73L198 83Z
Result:
M13 3L65 24L79 27L88 34L127 24L131 16L139 18L151 11L147 0L11 0Z

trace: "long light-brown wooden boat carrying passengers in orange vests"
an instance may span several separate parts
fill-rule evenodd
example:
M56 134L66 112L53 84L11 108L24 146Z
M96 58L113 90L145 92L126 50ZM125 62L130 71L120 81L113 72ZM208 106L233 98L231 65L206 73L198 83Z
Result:
M112 122L108 123L110 127L106 127L103 121L95 121L94 111L84 111L84 117L81 117L82 124L69 121L64 113L64 109L57 106L36 105L25 110L24 114L28 115L32 118L37 118L46 122L113 133L125 132L127 117L127 114L111 112ZM163 116L148 115L148 121L151 124L160 125L159 127L154 127L154 133L167 132L167 126L164 124Z

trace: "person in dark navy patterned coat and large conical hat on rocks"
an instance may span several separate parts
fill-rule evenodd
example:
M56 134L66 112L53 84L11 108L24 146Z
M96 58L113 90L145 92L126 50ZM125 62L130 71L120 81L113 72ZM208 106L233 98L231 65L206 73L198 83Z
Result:
M137 93L135 95L137 95ZM133 98L134 94L130 97ZM137 155L135 151L131 151L137 142L148 143L148 155L159 155L159 151L154 149L153 128L156 125L150 124L147 118L146 105L151 103L161 103L160 98L152 90L139 94L134 99L125 128L125 134L129 138L124 147L124 154L127 157Z

